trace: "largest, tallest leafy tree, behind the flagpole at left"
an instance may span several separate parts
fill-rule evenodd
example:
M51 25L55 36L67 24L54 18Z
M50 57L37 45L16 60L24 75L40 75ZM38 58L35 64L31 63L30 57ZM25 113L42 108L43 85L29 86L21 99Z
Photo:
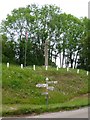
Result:
M6 20L2 22L2 33L7 36L6 43L12 41L16 44L14 59L17 59L19 64L24 63L25 43L27 44L27 65L31 64L32 56L35 64L44 64L44 43L50 31L48 24L57 9L55 6L43 6L40 9L36 5L14 9L11 15L8 15ZM25 42L26 31L30 42ZM29 43L32 45L30 48Z

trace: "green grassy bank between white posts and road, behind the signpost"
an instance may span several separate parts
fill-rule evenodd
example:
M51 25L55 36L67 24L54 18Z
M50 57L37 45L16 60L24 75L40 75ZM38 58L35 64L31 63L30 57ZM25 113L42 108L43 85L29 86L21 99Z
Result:
M6 68L3 65L2 73L3 115L40 113L88 104L87 95L83 96L88 92L86 71L81 70L77 74L73 69L67 72L66 69L60 68L57 71L51 67L48 71L44 67L37 67L33 71L32 67L21 69L12 65ZM36 88L37 83L45 83L46 77L58 81L58 84L53 85L55 90L49 91L48 109L45 96L41 95L45 88Z

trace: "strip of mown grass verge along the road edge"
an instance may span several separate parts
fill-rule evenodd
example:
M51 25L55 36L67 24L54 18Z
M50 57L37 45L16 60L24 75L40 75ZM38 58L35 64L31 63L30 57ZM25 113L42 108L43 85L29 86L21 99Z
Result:
M35 115L43 112L54 112L60 110L71 110L88 105L88 97L82 96L65 103L47 105L31 105L31 104L4 104L3 116L22 116Z

